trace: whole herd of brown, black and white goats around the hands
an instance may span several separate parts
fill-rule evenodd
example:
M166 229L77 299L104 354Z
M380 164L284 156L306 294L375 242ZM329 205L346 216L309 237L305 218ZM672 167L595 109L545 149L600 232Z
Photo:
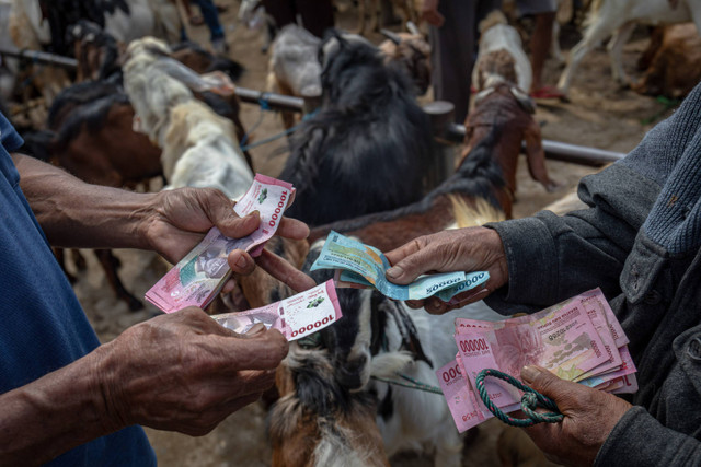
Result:
M36 13L31 2L23 3L15 25L32 24ZM69 24L56 13L60 44L72 47L78 60L78 82L49 93L45 127L25 136L26 149L89 183L135 187L160 176L166 188L216 187L235 199L255 170L240 145L245 129L233 83L242 69L193 43L173 45L176 23L165 14L166 3L150 3L148 34L140 38L115 33L127 13L120 9L143 5L137 0L115 1L106 15L112 22L102 24ZM631 22L653 22L664 13L669 22L693 20L701 26L701 7L691 0L594 3L591 25L561 81L565 89L582 56L614 31L612 57L620 60ZM35 27L27 31L37 42L42 37ZM27 31L24 36L31 36ZM677 43L667 31L653 40L656 49L646 54L651 70L671 60L660 50L679 47L680 35L674 34ZM417 31L388 35L376 47L356 34L334 31L321 40L290 25L272 45L268 90L321 96L319 108L299 122L283 115L285 127L295 127L279 175L297 188L287 215L307 222L310 238L275 237L266 246L307 272L331 230L389 250L440 230L508 219L522 147L531 176L548 190L558 187L545 170L535 104L524 92L530 66L504 16L496 13L484 23L464 145L455 172L437 186L426 183L436 147L416 102L429 85L429 48ZM674 67L663 68L646 79L674 81ZM622 69L613 69L624 79ZM112 253L99 257L117 294L131 310L140 307L120 283ZM327 271L309 273L318 282L329 279ZM256 307L292 293L256 270L239 278L232 296L214 306ZM371 290L342 289L338 297L343 325L291 342L278 367L268 424L273 465L388 466L403 450L430 452L436 466L461 465L463 440L443 397L386 381L403 375L436 385L435 370L455 357L446 338L453 319L486 316L485 305L433 316L410 313Z

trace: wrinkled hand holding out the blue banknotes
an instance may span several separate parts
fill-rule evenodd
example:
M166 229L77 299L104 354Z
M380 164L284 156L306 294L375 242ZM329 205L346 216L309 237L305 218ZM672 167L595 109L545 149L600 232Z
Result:
M456 229L421 236L392 252L386 253L392 268L387 279L398 284L409 284L427 272L482 271L490 280L480 290L471 290L456 296L459 303L448 305L437 297L407 301L411 307L425 306L433 314L441 314L468 303L486 297L508 280L504 245L496 231L486 227Z

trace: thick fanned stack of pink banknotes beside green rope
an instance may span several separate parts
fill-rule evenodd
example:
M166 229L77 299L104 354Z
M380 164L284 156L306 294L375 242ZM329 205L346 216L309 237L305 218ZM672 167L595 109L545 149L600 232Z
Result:
M460 432L492 417L475 378L494 369L520 380L526 365L613 394L635 393L635 365L628 338L599 289L532 315L501 322L456 319L456 360L436 372ZM490 399L505 413L520 408L521 392L487 377Z

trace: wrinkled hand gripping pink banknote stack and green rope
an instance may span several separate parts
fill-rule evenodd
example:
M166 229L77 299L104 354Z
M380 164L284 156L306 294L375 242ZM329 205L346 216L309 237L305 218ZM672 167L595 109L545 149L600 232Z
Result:
M554 400L565 416L560 423L524 429L548 458L558 464L593 465L616 423L633 407L612 394L560 380L538 366L526 366L521 378Z

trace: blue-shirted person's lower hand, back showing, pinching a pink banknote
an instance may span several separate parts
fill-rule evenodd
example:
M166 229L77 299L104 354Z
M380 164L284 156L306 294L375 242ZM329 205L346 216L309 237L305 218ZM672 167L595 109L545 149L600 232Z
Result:
M203 435L273 385L287 349L277 330L261 325L237 335L188 307L100 347L96 373L114 429L143 424Z

